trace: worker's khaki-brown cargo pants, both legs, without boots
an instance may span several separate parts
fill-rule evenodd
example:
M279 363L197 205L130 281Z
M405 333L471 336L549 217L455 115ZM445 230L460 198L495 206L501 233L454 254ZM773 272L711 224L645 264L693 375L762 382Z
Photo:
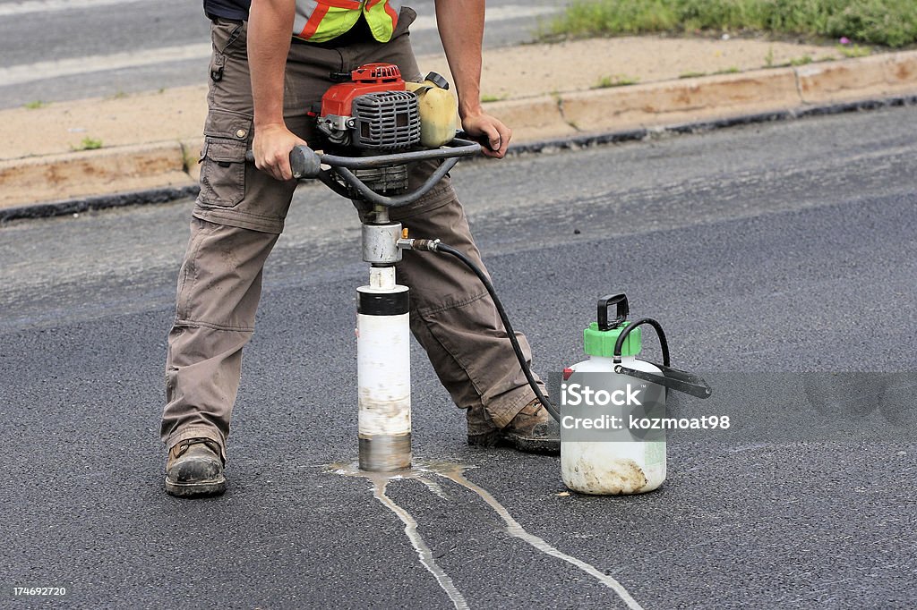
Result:
M397 64L405 79L419 81L408 34L414 18L413 10L403 9L394 37L385 44L293 44L284 87L290 129L310 141L313 125L305 113L332 84L330 72L382 61ZM211 439L225 458L242 348L254 332L262 267L283 230L295 182L273 180L245 162L252 140L246 24L217 20L212 38L201 192L178 279L160 435L169 448L189 438ZM419 184L434 168L432 163L413 168L412 183ZM448 179L391 215L415 237L439 238L481 264ZM414 251L404 253L397 274L399 283L411 289L414 337L456 405L470 409L470 432L503 428L534 395L480 280L451 256ZM525 337L517 336L531 358Z

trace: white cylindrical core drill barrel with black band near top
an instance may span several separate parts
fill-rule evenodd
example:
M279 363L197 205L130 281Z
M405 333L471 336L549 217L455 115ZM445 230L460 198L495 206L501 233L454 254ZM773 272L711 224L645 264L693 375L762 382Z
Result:
M408 289L394 267L373 267L357 289L359 467L411 467L411 330Z

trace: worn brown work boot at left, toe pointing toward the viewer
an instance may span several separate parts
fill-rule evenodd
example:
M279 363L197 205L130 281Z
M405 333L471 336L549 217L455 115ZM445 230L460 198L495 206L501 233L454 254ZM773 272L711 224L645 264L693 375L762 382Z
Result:
M210 439L188 439L169 450L166 492L171 496L213 496L226 491L220 446Z

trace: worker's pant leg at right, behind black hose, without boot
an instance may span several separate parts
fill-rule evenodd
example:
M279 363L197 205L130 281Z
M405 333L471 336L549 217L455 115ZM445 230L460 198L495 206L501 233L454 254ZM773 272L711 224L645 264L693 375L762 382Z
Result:
M487 273L448 181L424 203L393 211L392 218L414 237L440 239L457 248ZM411 287L414 334L456 404L471 409L476 428L470 434L505 428L535 395L481 280L452 256L416 251L404 253L398 278ZM516 338L531 362L525 336L517 332Z

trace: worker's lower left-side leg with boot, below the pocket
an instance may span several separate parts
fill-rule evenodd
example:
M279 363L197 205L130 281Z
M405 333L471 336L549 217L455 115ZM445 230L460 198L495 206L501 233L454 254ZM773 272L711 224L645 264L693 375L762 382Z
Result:
M226 485L222 466L242 347L254 332L261 268L277 237L192 219L169 333L160 428L170 450L166 487L173 495L218 493Z

